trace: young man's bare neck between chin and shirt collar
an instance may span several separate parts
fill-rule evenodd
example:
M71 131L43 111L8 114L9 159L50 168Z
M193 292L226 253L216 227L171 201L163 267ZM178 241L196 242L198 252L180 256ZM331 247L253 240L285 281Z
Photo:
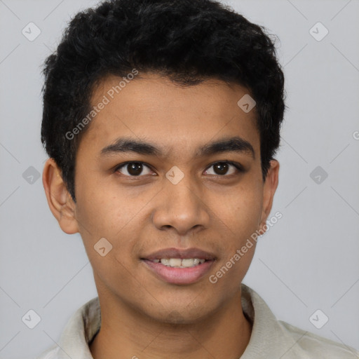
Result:
M251 331L241 292L216 313L190 324L158 323L132 309L101 305L101 329L90 351L94 359L238 359Z

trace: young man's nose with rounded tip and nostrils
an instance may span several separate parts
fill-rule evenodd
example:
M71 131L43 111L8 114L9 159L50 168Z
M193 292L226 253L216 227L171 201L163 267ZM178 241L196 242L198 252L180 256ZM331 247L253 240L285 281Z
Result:
M152 220L161 231L173 229L177 235L186 236L191 234L191 231L208 228L209 212L203 191L191 185L189 176L184 176L177 184L165 179L164 188L158 195L152 213Z

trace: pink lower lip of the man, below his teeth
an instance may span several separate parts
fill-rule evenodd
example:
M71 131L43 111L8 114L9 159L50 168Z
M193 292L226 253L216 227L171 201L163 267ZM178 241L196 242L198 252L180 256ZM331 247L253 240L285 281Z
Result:
M205 261L203 264L198 264L190 268L174 268L161 263L151 262L148 259L142 259L142 262L160 279L165 280L165 282L172 284L191 284L203 277L205 273L208 273L214 261Z

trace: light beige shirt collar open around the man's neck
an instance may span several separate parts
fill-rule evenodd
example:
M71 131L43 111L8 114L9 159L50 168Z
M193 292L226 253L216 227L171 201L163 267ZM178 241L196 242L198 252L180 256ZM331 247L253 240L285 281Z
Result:
M307 351L297 345L306 332L291 331L290 326L276 319L255 290L243 283L241 288L243 313L252 322L250 341L241 359L309 359ZM81 306L69 319L55 352L53 351L48 359L93 359L88 344L100 330L100 325L100 301L95 297Z

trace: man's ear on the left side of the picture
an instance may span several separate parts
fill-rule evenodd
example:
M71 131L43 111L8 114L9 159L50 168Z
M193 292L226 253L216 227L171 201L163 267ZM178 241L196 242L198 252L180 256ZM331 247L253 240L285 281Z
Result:
M74 234L79 231L75 217L76 203L62 180L61 170L53 158L48 158L42 174L48 206L59 222L62 231Z

